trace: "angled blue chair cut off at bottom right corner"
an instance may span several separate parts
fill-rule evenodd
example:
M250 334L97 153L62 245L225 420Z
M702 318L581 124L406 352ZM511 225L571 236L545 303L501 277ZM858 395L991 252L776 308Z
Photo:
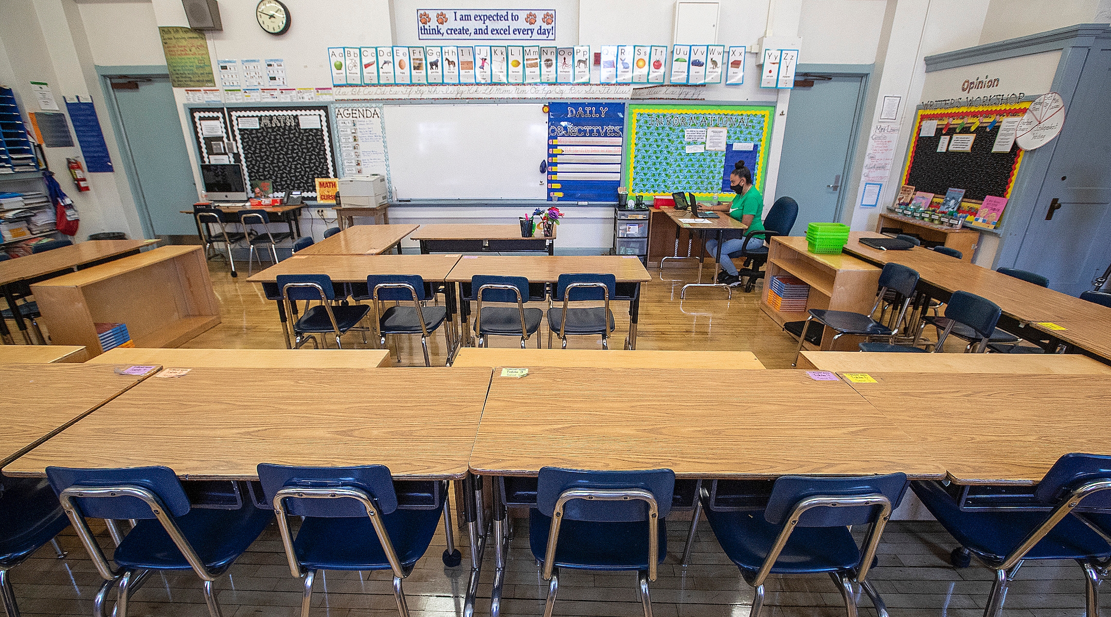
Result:
M941 482L911 483L914 494L961 547L954 565L975 555L995 570L984 617L1003 610L1007 586L1028 559L1074 559L1084 570L1088 617L1097 616L1100 570L1111 558L1111 456L1065 454L1033 489L1029 503L962 509Z

